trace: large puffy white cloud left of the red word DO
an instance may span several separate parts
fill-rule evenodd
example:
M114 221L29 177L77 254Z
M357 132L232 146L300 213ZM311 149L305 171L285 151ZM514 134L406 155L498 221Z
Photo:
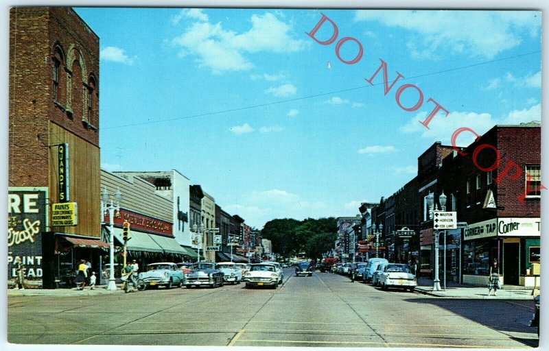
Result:
M305 47L305 40L294 39L292 27L272 13L253 14L250 23L248 32L238 34L221 23L196 22L172 43L182 48L180 56L196 56L198 64L213 73L251 69L254 64L246 57L250 53L290 53Z

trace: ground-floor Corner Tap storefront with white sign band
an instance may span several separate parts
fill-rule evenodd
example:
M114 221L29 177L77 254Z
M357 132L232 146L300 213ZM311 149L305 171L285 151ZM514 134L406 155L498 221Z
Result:
M539 263L540 219L504 217L470 224L463 234L463 282L487 285L497 259L504 285L533 287L530 265Z

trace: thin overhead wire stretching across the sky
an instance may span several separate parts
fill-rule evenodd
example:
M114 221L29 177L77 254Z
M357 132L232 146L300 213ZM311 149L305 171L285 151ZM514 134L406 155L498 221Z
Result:
M494 62L500 62L500 61L504 61L504 60L513 60L515 58L522 58L524 56L528 56L528 55L533 55L535 53L541 53L541 50L538 50L538 51L533 51L533 52L529 52L529 53L521 53L519 55L516 55L516 56L509 56L509 57L506 57L506 58L498 58L497 60L489 60L489 61L484 61L484 62L479 62L479 63L476 63L476 64L468 64L467 66L460 66L460 67L456 67L456 68L453 68L453 69L445 69L443 71L436 71L436 72L431 72L431 73L425 73L425 74L422 74L422 75L414 75L413 77L403 77L401 78L401 80L412 80L412 79L416 79L416 78L421 78L421 77L428 77L430 75L437 75L437 74L441 74L441 73L448 73L448 72L452 72L452 71L459 71L461 69L469 69L471 67L476 67L476 66L482 66L483 64L491 64L491 63L494 63ZM394 82L394 81L391 81L391 83ZM372 84L370 86L379 86L379 85L382 85L384 84L384 82L382 83L377 83L377 84ZM342 89L342 90L334 90L334 91L331 91L329 93L319 93L319 94L315 94L315 95L307 95L307 96L304 96L304 97L296 97L294 99L286 99L286 100L281 100L281 101L274 101L274 102L269 102L269 103L266 103L266 104L259 104L259 105L252 105L252 106L244 106L244 107L241 107L241 108L231 108L229 110L221 110L221 111L215 111L215 112L206 112L206 113L201 113L201 114L193 114L193 115L190 115L190 116L184 116L184 117L174 117L174 118L170 118L170 119L159 119L159 120L156 120L156 121L146 121L146 122L139 122L139 123L131 123L131 124L125 124L125 125L115 125L113 127L107 127L107 128L100 128L100 130L110 130L110 129L115 129L115 128L125 128L125 127L134 127L136 125L147 125L147 124L152 124L152 123L162 123L162 122L169 122L169 121L179 121L181 119L191 119L191 118L197 118L197 117L205 117L205 116L212 116L214 114L222 114L222 113L228 113L228 112L235 112L235 111L242 111L242 110L250 110L252 108L259 108L259 107L266 107L266 106L272 106L272 105L277 105L277 104L285 104L287 102L292 102L292 101L299 101L299 100L304 100L304 99L312 99L314 97L322 97L322 96L326 96L326 95L332 95L332 94L337 94L337 93L345 93L347 91L352 91L352 90L358 90L358 89L363 89L363 88L369 88L370 86L368 85L363 85L363 86L356 86L354 88L347 88L347 89Z

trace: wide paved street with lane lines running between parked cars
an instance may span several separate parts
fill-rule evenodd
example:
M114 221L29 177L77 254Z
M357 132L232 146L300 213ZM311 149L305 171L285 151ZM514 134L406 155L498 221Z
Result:
M343 276L292 276L276 291L158 289L10 296L12 343L533 348L528 300L454 300L381 291Z

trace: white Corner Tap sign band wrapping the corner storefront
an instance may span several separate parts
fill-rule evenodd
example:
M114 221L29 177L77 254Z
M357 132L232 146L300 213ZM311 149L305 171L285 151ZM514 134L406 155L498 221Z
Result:
M539 237L539 218L498 218L469 225L463 234L464 240L489 237Z

